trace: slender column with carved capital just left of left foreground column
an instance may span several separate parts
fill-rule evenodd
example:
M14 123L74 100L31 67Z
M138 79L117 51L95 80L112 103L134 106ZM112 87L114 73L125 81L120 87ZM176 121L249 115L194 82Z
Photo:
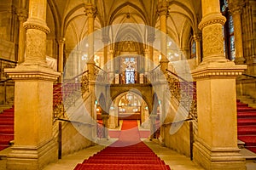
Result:
M19 19L19 48L18 48L18 63L24 62L25 55L25 39L26 39L26 30L23 26L23 23L27 19L27 10L26 8L16 8L16 14Z

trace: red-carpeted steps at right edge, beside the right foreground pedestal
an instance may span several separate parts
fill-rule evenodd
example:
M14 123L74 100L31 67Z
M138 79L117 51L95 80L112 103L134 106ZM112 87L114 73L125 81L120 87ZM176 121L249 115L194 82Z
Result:
M248 150L256 153L256 109L237 100L237 134Z

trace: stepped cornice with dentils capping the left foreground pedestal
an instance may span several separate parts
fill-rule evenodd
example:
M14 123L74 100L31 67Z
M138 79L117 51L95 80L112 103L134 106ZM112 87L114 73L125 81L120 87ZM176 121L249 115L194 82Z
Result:
M42 80L55 82L61 76L60 72L55 72L50 69L22 68L22 69L5 69L9 76L15 81L34 81Z

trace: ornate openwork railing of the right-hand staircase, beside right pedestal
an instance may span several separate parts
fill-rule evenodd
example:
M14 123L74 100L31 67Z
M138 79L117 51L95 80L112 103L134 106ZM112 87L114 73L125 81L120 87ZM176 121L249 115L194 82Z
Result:
M172 94L186 111L189 111L189 118L197 120L196 109L196 88L194 82L188 82L183 77L177 76L172 71L166 70L166 81Z

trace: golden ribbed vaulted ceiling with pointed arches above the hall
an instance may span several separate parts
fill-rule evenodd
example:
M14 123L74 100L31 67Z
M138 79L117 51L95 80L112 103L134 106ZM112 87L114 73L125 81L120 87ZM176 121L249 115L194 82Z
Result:
M157 4L159 0L48 0L47 24L49 37L65 37L66 48L73 48L87 34L84 4L97 8L95 29L124 23L160 28ZM201 20L201 0L168 0L167 34L178 46L187 46L191 35L198 32ZM119 27L119 37L138 32ZM143 38L143 35L141 36Z

